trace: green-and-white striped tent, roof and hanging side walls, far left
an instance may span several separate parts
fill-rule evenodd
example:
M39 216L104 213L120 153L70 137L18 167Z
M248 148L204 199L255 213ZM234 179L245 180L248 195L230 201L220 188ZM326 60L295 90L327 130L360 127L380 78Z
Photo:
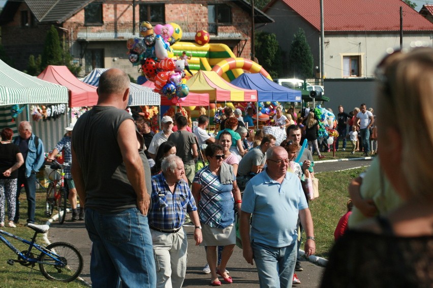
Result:
M56 119L32 121L29 115L30 104L66 104L68 103L68 88L18 71L0 60L0 130L9 127L17 135L17 123L29 121L33 132L38 135L48 149L52 149L63 136L64 128L68 126L68 115L64 113ZM16 119L12 118L12 106L26 105Z

